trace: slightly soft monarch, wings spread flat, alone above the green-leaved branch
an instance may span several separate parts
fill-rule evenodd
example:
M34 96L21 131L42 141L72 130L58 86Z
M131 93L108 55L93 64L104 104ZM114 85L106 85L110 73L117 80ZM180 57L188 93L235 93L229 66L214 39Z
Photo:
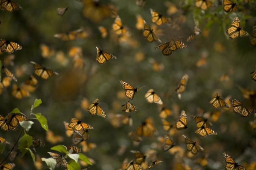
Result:
M52 71L50 69L47 69L43 65L40 65L40 64L32 62L32 61L30 63L34 67L35 75L37 75L38 77L43 78L44 80L48 79L49 77L51 77L53 75L59 75L57 72L54 72L54 71Z

